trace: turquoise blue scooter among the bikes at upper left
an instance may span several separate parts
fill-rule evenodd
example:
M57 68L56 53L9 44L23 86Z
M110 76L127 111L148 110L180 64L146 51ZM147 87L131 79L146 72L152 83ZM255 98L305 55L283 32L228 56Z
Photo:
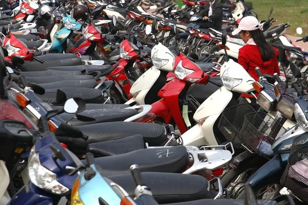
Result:
M81 24L73 19L70 15L65 14L63 17L64 27L54 35L54 40L52 42L51 52L57 51L63 53L66 50L69 42L67 38L70 36L73 30L80 30Z

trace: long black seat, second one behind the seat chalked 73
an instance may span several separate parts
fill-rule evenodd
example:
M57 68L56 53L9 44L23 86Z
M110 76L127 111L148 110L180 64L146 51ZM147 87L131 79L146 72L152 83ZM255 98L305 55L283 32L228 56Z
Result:
M69 133L64 137L57 137L65 143L68 148L79 154L85 154L89 144L102 141L121 139L132 135L140 134L144 142L149 146L161 146L167 139L166 129L154 123L142 122L105 122L100 124L76 126L84 135L89 136L88 140L69 137Z

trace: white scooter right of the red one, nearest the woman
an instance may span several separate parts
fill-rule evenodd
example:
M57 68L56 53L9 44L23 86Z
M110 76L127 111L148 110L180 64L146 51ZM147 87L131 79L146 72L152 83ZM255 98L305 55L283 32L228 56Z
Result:
M222 35L222 45L226 46L225 30ZM182 134L184 145L218 145L217 139L220 139L221 135L217 125L223 110L237 105L237 99L241 93L247 94L255 90L253 87L255 79L232 59L222 65L220 73L223 86L207 98L195 112L194 119L199 124ZM275 114L273 115L275 116ZM287 120L283 126L288 128L294 125L290 120ZM223 143L225 139L221 138L219 141Z

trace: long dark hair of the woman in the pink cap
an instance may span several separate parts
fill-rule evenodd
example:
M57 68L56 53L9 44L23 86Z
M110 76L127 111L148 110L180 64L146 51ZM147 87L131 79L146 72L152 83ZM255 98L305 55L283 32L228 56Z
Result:
M275 56L275 50L271 46L271 44L266 42L262 31L260 29L257 29L254 31L249 31L249 33L252 34L255 43L259 47L263 62L272 59Z

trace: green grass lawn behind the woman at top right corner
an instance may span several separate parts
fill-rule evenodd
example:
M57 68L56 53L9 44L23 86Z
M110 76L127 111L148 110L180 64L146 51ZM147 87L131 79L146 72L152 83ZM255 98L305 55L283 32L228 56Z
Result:
M267 20L271 7L274 11L271 17L277 20L275 24L290 23L286 34L298 36L296 28L301 27L304 34L308 34L308 1L307 0L246 0L253 2L254 11L259 20Z

